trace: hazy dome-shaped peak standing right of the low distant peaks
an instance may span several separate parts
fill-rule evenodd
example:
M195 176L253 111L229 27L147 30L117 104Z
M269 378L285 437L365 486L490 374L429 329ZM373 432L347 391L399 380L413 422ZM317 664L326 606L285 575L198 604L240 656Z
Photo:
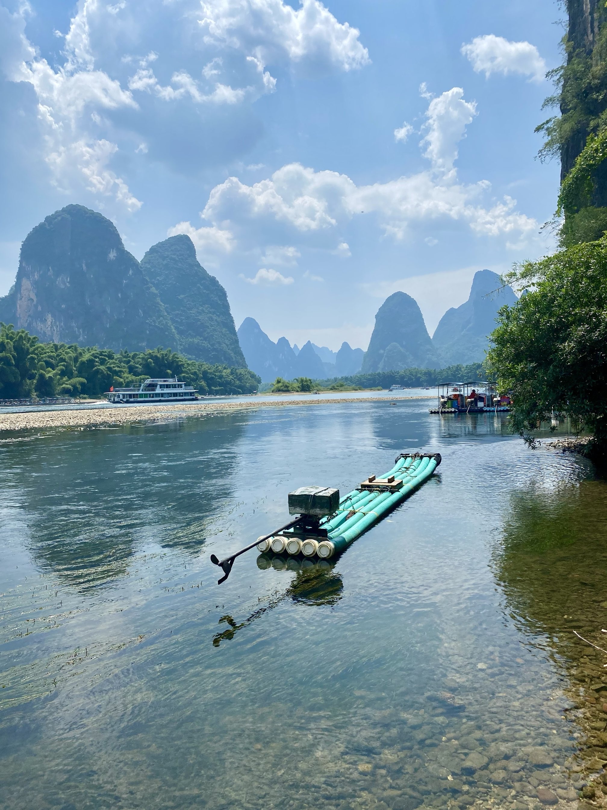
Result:
M437 369L439 364L417 301L405 292L395 292L386 298L376 314L376 325L363 358L363 373Z

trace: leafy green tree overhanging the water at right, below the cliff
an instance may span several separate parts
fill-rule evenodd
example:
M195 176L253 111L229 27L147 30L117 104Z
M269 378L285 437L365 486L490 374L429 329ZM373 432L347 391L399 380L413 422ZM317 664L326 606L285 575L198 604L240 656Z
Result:
M513 274L514 275L514 274ZM487 363L511 390L511 423L529 436L552 411L592 433L607 458L607 240L574 245L516 273L527 288L504 307Z

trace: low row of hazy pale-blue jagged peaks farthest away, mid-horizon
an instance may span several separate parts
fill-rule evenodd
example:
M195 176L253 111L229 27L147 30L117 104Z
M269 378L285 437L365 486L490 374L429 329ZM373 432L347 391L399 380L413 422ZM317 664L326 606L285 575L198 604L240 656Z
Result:
M296 344L291 347L287 338L279 338L274 343L253 318L244 318L238 330L238 339L248 368L259 374L262 382L273 382L276 377L286 380L295 377L311 377L315 380L345 377L359 372L363 363L363 349L353 349L348 343L342 343L339 352L332 352L326 346L316 346L309 340L300 349Z

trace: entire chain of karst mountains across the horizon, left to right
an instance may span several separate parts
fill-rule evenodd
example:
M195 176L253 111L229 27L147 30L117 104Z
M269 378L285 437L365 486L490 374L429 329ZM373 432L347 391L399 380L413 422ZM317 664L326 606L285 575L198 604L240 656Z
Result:
M498 310L516 300L499 275L482 270L468 301L444 313L432 338L417 302L395 292L376 314L367 352L348 343L333 352L309 340L291 347L287 338L270 340L253 318L236 333L226 291L198 262L189 237L160 241L138 262L112 222L68 205L23 241L0 321L55 343L116 352L171 347L193 360L248 366L272 382L480 362Z

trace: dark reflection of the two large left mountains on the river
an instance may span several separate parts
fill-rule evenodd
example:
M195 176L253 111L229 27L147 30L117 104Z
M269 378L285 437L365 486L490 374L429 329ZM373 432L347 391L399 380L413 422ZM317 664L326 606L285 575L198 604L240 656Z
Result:
M5 445L5 471L18 464L27 482L19 503L33 556L86 589L123 576L142 541L199 552L238 471L242 426L227 430L226 421L168 422L154 433L132 425L123 428L128 444L98 428L40 438L28 454Z

